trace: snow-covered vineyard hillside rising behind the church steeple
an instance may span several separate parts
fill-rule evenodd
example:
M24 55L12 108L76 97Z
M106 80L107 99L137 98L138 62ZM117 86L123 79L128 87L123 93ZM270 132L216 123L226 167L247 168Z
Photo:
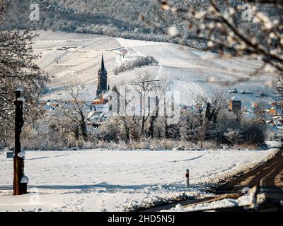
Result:
M40 32L33 45L36 52L42 52L39 65L50 74L47 84L49 92L42 100L67 100L64 89L72 83L85 85L83 100L92 100L96 95L97 73L101 54L105 57L110 86L120 85L122 81L132 81L137 73L144 72L158 79L170 81L171 88L180 91L180 101L185 105L194 104L197 95L211 97L214 90L233 97L227 90L246 90L252 94L238 94L247 105L254 102L276 100L272 80L275 75L264 73L250 78L249 74L260 67L259 61L246 59L220 59L216 54L201 52L178 44L125 40L101 35L83 35L62 32ZM123 59L121 51L127 52ZM159 61L159 66L144 66L119 75L113 70L123 61L131 61L138 56L151 56ZM231 83L238 79L249 81ZM230 85L223 85L229 82ZM259 97L258 93L265 93Z

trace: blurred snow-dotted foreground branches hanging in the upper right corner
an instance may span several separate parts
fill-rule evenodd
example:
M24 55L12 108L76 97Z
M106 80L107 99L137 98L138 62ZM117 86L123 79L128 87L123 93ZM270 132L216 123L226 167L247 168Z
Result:
M170 11L187 23L185 30L176 26L168 34L180 42L202 41L207 49L224 57L259 59L260 71L283 73L283 2L277 0L193 0L189 6L158 0L163 13Z

